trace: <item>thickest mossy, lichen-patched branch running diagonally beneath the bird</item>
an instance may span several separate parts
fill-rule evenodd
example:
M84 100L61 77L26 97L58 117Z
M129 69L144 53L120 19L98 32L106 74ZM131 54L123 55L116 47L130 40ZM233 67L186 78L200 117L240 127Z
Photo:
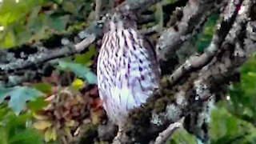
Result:
M248 31L251 29L245 27L246 22L250 21L249 13L254 3L249 0L244 2L230 1L230 9L227 9L228 11L223 14L221 26L210 45L214 48L208 49L213 52L213 55L210 55L211 61L203 61L205 62L204 65L200 65L197 71L187 71L186 77L182 77L182 81L174 83L171 88L169 87L169 92L162 92L162 89L158 90L142 108L131 112L130 121L123 133L124 139L115 140L114 143L154 142L158 133L165 130L171 122L177 122L178 119L188 116L191 112L209 113L209 110L204 110L204 107L208 106L205 103L208 103L208 100L213 98L215 94L224 94L225 87L233 79L232 76L235 71L239 66L242 66L246 58L250 57L249 52L251 54L256 52L255 47L252 48L254 43L238 49L239 43L246 41L249 44L249 39L256 38ZM240 6L245 6L246 10L238 14ZM256 27L255 25L247 26ZM246 34L245 30L247 30ZM235 41L230 41L231 39L235 39ZM209 52L208 50L206 53ZM240 50L240 53L236 53L237 50ZM163 84L165 82L168 81L163 81ZM168 88L168 85L166 87ZM197 127L194 128L197 129ZM201 133L194 131L194 133L197 132ZM198 137L205 137L205 134L198 134ZM126 141L127 139L129 141ZM205 137L204 140L207 141L207 138Z

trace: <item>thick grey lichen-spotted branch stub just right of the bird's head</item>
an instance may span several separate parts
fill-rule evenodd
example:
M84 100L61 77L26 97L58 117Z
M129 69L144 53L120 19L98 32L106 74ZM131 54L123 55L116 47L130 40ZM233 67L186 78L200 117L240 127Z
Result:
M198 26L200 19L204 18L214 6L214 0L190 0L183 8L183 17L177 25L165 30L156 46L158 57L167 61L174 52L181 47L182 43L189 40L188 35ZM170 41L171 40L171 41Z

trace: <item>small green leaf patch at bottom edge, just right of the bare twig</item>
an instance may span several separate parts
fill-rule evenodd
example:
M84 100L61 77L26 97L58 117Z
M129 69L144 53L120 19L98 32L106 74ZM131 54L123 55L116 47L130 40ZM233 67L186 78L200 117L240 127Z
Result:
M175 130L168 144L198 144L197 138L184 129Z

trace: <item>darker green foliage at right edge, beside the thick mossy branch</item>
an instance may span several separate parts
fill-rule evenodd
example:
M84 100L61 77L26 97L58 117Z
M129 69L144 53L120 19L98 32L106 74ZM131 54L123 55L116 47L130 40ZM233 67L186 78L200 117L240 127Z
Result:
M241 69L241 82L230 87L229 108L232 114L246 121L256 122L256 55Z

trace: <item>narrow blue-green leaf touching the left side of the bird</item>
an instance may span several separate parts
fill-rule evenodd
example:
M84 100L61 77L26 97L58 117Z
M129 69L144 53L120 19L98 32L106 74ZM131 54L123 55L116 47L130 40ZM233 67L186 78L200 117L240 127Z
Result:
M86 79L86 81L90 84L97 83L96 75L86 66L74 62L63 61L59 61L58 66L62 70L71 70L72 72L74 72L74 74L78 76L78 78Z

